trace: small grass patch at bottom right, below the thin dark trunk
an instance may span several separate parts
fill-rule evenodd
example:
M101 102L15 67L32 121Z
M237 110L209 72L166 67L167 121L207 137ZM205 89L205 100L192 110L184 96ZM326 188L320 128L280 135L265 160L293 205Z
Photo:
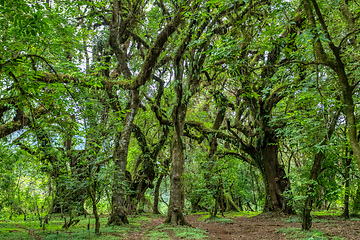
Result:
M286 238L297 240L345 240L338 236L329 237L326 233L316 229L301 231L300 228L281 228L278 232L285 234Z

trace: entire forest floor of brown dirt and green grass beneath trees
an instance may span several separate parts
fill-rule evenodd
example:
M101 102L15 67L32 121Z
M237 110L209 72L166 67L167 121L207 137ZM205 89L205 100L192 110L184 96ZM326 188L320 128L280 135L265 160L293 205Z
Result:
M224 217L210 220L205 213L187 215L193 226L172 227L163 224L165 217L139 215L130 217L130 224L122 227L106 227L107 216L101 218L101 236L94 234L94 219L81 219L68 229L62 229L63 219L52 217L43 230L35 217L23 221L0 220L1 240L52 240L52 239L242 239L242 240L287 240L287 239L360 239L360 219L344 220L339 212L314 212L313 228L309 232L300 230L297 216L274 216L253 212L226 213ZM90 223L90 230L88 224Z

